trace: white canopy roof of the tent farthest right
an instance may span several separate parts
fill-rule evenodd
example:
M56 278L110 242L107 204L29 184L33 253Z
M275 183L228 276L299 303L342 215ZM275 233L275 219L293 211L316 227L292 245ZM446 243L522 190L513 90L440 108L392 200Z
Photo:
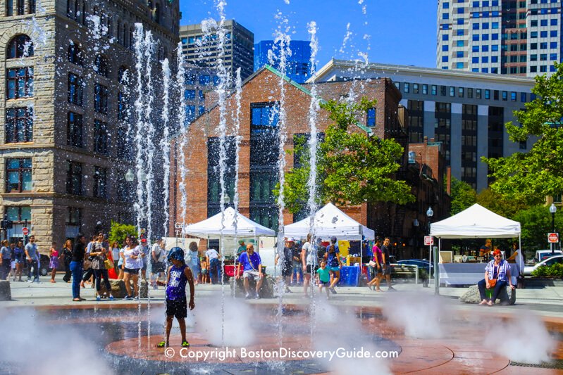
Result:
M440 239L518 237L520 223L475 203L452 217L432 223L430 234Z

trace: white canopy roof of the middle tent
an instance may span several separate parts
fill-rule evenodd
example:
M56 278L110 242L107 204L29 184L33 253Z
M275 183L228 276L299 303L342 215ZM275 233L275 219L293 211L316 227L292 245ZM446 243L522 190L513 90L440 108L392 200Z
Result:
M286 237L306 238L311 221L306 217L299 222L285 226ZM323 239L335 236L339 240L374 239L375 232L339 210L332 203L327 203L318 210L314 217L313 231L315 236Z

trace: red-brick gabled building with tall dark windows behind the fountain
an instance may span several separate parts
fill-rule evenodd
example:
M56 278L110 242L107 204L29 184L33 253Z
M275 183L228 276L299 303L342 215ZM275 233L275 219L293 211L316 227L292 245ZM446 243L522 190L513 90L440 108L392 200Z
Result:
M252 220L277 229L278 207L276 198L271 193L278 182L278 129L275 106L280 98L280 73L270 67L262 68L249 77L242 87L240 117L240 165L239 165L239 210ZM407 167L407 132L403 124L406 123L406 111L399 105L400 91L390 79L371 80L362 82L323 82L316 85L318 96L324 100L342 100L349 97L352 87L356 94L355 100L362 96L376 99L376 108L366 113L366 117L353 132L362 132L366 136L377 136L382 139L393 138L404 147L401 174L406 174ZM293 147L294 137L309 134L309 101L311 100L309 85L299 85L287 80L285 82L285 111L287 113L286 129L287 142L285 149ZM211 98L210 98L211 99ZM234 113L235 98L229 96L226 100L226 113ZM208 106L209 108L209 106ZM187 148L180 149L181 136L173 138L171 149L173 161L171 163L171 231L174 222L182 222L180 217L180 158L184 158L187 168L187 217L186 223L198 222L221 210L221 189L219 187L218 170L218 125L219 108L210 108L208 112L198 117L187 135ZM227 162L225 167L225 186L232 205L235 179L235 143L233 118L227 116ZM322 133L330 124L328 113L320 110L318 113L318 132ZM294 155L286 155L287 167L294 165ZM382 208L385 208L382 210ZM404 220L407 208L397 208L388 203L364 203L359 206L345 207L347 215L361 224L375 229L378 234L400 237L402 243L407 243L407 236L411 234L404 230ZM397 218L397 212L400 217ZM290 224L301 217L289 212L284 214L284 222ZM397 220L395 220L397 219ZM409 227L410 229L410 227Z

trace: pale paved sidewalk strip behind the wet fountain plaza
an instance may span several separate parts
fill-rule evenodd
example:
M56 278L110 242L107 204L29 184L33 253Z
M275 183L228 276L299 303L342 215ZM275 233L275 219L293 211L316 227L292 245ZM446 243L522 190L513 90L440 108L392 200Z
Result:
M80 306L87 304L111 303L131 303L136 304L137 301L124 300L102 300L97 302L94 296L94 288L82 288L80 295L87 300L82 303L72 301L71 283L65 283L62 279L63 275L56 276L56 283L51 284L50 277L41 277L41 284L27 282L12 282L11 293L12 300L0 302L0 307L20 307L20 306ZM396 292L387 292L385 283L382 284L383 292L377 293L371 291L366 286L361 287L337 287L338 294L331 295L330 303L335 305L348 305L357 307L381 307L385 302L385 297L389 293L415 293L416 295L434 295L435 290L433 284L428 288L423 288L421 284L396 284L393 286ZM230 295L230 286L225 284L225 295ZM467 291L468 288L440 288L440 296L448 302L449 305L459 310L471 310L473 308L480 311L483 307L478 305L468 305L459 302L459 296ZM292 293L283 295L284 303L305 305L310 301L303 297L302 286L290 287ZM164 287L160 286L158 290L150 289L151 303L163 303ZM196 298L211 297L221 293L221 285L199 284L196 286ZM323 292L324 293L324 292ZM318 292L316 291L316 295ZM319 296L320 297L320 296ZM324 295L322 296L324 298ZM146 301L146 299L143 299ZM252 300L250 303L260 304L277 304L277 298ZM526 289L516 289L516 305L514 306L495 306L495 312L514 312L514 310L532 310L538 314L547 317L563 318L563 286L544 286L544 287L528 287Z

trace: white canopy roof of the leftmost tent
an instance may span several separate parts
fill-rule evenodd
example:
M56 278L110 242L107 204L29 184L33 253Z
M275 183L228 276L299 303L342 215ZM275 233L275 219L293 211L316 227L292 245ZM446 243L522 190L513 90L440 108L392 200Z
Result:
M244 236L276 236L276 232L266 228L257 222L253 222L245 215L235 211L234 208L225 209L223 225L221 225L221 212L217 215L209 217L209 219L187 225L182 233L190 236L196 236L202 239L218 239L223 236L228 237L244 237ZM235 216L237 218L235 231ZM223 230L221 230L223 227Z

